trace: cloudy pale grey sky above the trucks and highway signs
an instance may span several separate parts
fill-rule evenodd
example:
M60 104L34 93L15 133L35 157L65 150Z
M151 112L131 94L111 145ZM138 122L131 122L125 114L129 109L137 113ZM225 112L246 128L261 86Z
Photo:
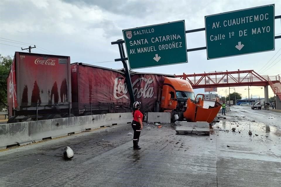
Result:
M2 0L0 54L13 56L15 51L21 50L20 47L34 44L37 48L32 52L35 53L71 56L71 62L117 69L122 68L122 63L112 61L120 57L118 47L110 42L123 38L122 29L177 20L185 20L186 30L197 29L205 27L205 15L268 4L275 4L275 15L281 15L281 1L278 0ZM281 35L280 19L275 20L275 35ZM186 34L186 41L188 49L204 47L205 32ZM275 39L275 51L270 52L207 60L206 50L193 51L188 53L189 63L136 71L182 75L183 72L191 74L240 69L277 75L281 73L280 49L281 39ZM111 62L100 63L104 61ZM236 91L245 98L248 95L246 88L237 87ZM228 90L218 88L220 95L225 95L225 89ZM204 90L198 89L196 92ZM251 94L253 97L264 96L263 89L255 86L250 87ZM273 96L271 89L269 95Z

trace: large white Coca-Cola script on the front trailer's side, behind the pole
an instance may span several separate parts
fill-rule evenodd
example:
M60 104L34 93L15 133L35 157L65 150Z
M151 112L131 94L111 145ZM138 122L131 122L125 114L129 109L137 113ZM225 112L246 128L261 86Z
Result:
M142 81L145 82L145 85L141 88L140 85L142 83ZM153 83L153 79L152 78L145 78L145 77L140 77L138 79L136 79L133 83L133 93L134 96L137 98L152 98L154 95L153 92L153 87L150 87L150 84ZM129 99L128 96L126 96L126 94L128 93L128 86L127 83L123 83L122 82L122 78L121 77L116 77L115 81L114 81L114 98L116 99L120 99L122 97ZM117 96L118 94L118 96Z

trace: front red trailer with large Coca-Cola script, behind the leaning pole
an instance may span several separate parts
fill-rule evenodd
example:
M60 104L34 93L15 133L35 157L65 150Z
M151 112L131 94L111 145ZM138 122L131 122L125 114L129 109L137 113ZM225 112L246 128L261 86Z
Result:
M133 93L144 112L154 111L164 77L172 75L131 72ZM83 63L71 64L72 111L79 115L129 112L130 96L123 70Z

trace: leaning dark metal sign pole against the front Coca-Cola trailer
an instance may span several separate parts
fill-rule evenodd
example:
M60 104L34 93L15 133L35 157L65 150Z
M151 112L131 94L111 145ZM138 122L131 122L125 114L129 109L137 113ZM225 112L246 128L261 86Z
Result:
M118 44L119 52L120 52L120 58L115 59L115 62L116 62L116 61L122 61L122 63L123 63L123 67L124 67L124 69L125 69L126 83L127 83L127 85L128 85L128 91L129 91L130 100L131 100L131 105L133 105L133 103L134 103L136 100L135 100L135 96L134 96L134 93L133 93L133 86L132 86L132 81L131 81L130 72L129 72L129 69L128 69L128 65L127 65L127 63L126 63L126 61L125 61L125 60L127 60L128 58L125 58L125 52L124 52L123 43L124 43L124 40L119 39L119 40L117 40L117 41L112 41L112 42L111 42L111 45Z

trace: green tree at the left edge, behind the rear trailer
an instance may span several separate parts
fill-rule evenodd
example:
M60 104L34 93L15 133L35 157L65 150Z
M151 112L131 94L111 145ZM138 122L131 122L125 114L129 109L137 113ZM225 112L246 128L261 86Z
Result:
M0 54L0 109L7 108L7 77L13 59L11 56L1 56Z

